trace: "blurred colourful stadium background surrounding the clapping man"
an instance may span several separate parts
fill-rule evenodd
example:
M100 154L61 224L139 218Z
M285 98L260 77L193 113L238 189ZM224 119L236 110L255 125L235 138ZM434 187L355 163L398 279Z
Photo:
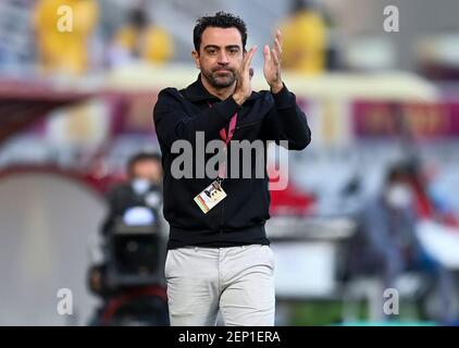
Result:
M193 27L220 10L246 21L249 47L281 27L284 80L312 128L311 146L289 154L287 189L272 196L276 323L444 323L442 295L427 291L421 306L418 271L397 277L400 313L387 322L377 269L349 275L346 265L357 213L392 164L415 163L431 207L418 237L458 288L459 2L317 0L294 11L298 2L0 2L1 325L88 323L103 194L125 179L129 156L159 150L157 94L196 79ZM70 33L57 30L59 5L73 9ZM399 32L384 30L387 5ZM260 53L253 65L255 89L265 89ZM73 315L57 313L60 288L73 290ZM455 290L451 308L458 301Z

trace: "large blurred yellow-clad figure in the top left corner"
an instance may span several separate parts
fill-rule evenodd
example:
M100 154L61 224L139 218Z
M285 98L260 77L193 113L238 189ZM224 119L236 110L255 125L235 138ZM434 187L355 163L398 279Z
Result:
M38 0L34 24L45 72L80 74L88 69L88 39L98 15L97 0Z

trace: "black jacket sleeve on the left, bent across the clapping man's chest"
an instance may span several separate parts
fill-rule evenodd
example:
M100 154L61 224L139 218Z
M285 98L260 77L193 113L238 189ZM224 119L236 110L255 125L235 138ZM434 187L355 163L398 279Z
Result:
M220 129L238 110L239 105L230 97L204 111L190 113L184 105L184 97L175 88L165 88L158 95L153 109L154 128L158 139L169 148L178 139L194 142L197 132L218 139Z

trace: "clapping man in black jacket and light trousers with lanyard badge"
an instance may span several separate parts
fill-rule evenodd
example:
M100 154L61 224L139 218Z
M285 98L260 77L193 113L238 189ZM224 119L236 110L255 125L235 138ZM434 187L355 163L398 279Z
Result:
M214 325L219 309L226 325L274 324L274 257L264 232L269 178L265 165L263 175L255 173L266 152L253 153L252 144L302 150L311 133L281 78L281 33L273 48L263 47L270 91L251 90L257 47L246 51L246 40L239 17L219 12L198 20L198 79L182 90L163 89L154 107L171 226L164 271L172 325ZM206 146L219 140L224 157L214 163Z

